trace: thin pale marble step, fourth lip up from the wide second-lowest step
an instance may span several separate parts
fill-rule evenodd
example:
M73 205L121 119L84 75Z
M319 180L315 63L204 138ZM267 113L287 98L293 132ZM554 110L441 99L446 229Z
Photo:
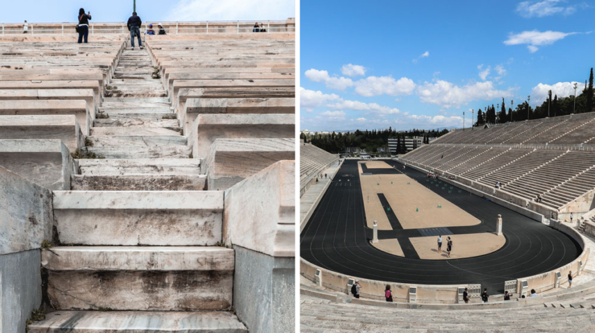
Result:
M85 147L97 157L106 159L131 159L131 158L188 158L192 155L190 146L138 146L138 147Z

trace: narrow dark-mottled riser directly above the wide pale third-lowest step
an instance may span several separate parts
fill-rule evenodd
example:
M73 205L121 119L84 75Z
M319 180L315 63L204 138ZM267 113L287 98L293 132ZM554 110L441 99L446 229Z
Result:
M70 176L73 191L202 191L206 175Z

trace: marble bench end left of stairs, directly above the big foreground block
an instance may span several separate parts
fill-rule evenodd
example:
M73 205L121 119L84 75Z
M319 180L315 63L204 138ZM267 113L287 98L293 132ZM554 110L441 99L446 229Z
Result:
M76 167L60 140L0 140L0 166L46 189L70 189Z

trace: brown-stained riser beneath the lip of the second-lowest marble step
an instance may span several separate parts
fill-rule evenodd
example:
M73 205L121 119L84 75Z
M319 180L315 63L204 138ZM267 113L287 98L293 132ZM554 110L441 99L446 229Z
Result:
M49 271L56 309L227 310L231 271Z

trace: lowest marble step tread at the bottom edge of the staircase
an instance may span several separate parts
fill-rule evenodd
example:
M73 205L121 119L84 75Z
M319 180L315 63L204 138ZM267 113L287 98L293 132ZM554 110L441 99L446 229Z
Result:
M248 333L229 311L54 311L28 333Z

